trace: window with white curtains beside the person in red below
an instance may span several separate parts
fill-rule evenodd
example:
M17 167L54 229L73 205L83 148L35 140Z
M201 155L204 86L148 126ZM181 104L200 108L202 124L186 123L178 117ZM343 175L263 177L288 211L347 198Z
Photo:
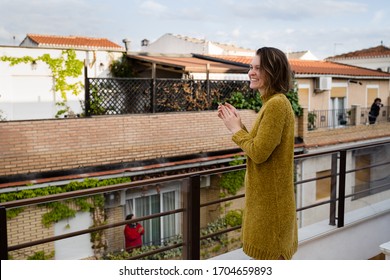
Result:
M133 213L136 217L162 213L178 208L178 187L149 187L147 192L131 193L126 199L126 215ZM141 222L145 228L142 242L145 245L160 245L180 234L177 214L167 215Z

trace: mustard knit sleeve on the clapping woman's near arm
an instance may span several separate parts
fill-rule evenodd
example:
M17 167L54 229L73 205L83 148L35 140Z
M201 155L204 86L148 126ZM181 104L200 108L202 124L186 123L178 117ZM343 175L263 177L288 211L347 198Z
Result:
M280 144L285 116L289 109L287 106L289 104L283 102L283 99L271 98L264 108L258 130L253 137L243 129L233 135L232 140L256 164L266 161Z

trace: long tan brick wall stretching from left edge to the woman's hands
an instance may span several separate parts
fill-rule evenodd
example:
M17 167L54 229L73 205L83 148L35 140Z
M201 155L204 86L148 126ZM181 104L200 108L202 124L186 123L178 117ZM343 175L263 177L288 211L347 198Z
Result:
M215 111L0 122L0 136L0 176L237 148Z

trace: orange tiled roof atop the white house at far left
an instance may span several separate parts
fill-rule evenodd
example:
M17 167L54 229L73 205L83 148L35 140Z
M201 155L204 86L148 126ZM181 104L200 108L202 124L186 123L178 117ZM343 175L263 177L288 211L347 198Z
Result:
M26 39L36 43L40 47L66 47L66 48L88 48L123 51L124 47L115 44L106 38L90 38L79 36L54 36L27 34ZM26 40L25 39L25 40Z

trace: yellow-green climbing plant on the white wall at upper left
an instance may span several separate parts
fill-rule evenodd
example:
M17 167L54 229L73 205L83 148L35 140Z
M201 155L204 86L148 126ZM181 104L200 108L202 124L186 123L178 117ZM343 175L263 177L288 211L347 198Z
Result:
M68 94L71 93L77 96L83 88L81 81L72 81L72 78L78 78L82 74L84 65L81 60L76 58L74 50L63 50L61 56L57 58L52 58L49 54L43 54L36 58L31 56L0 56L0 61L9 62L10 66L20 63L37 63L38 61L47 64L53 75L54 91L59 94L59 101L56 102L56 105L60 109L56 114L56 118L69 111L69 106L67 106Z

